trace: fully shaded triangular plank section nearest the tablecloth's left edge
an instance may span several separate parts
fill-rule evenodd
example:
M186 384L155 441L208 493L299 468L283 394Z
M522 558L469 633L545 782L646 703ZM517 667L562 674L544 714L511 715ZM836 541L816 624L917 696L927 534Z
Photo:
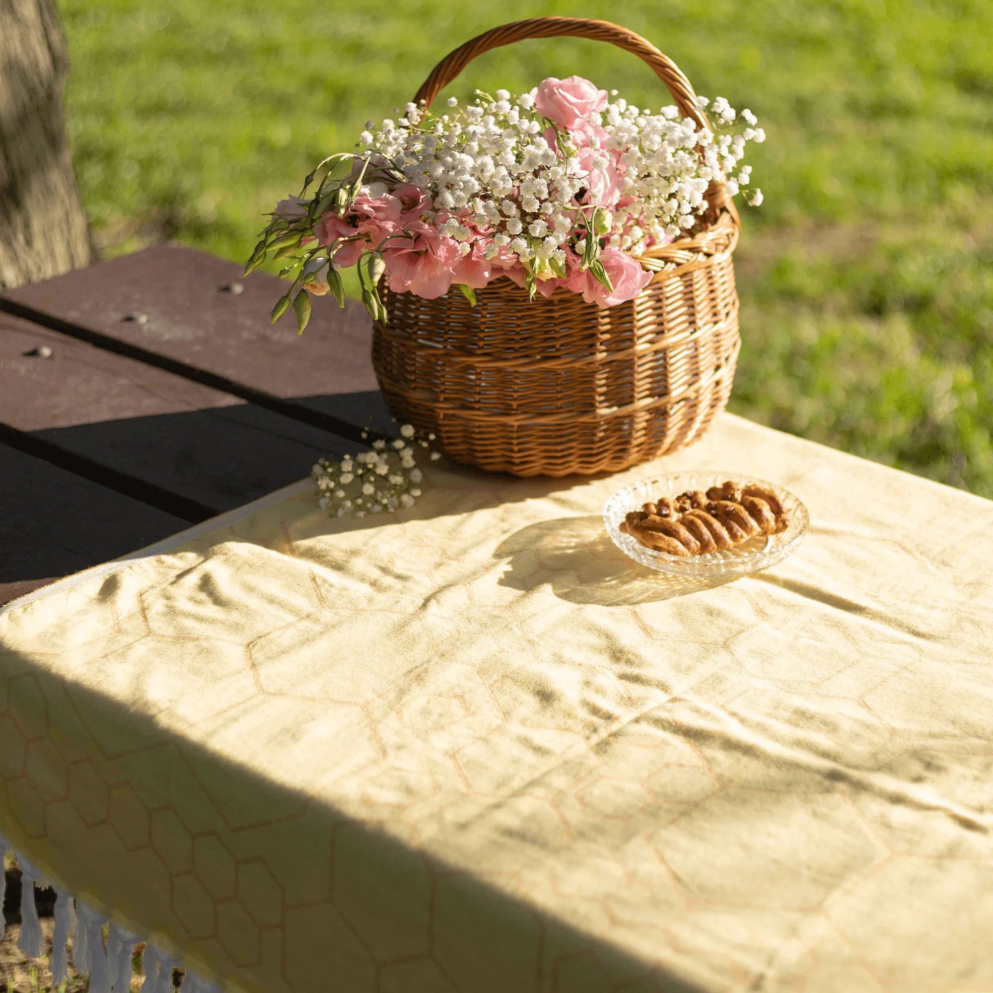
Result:
M0 603L189 526L2 443L0 507Z

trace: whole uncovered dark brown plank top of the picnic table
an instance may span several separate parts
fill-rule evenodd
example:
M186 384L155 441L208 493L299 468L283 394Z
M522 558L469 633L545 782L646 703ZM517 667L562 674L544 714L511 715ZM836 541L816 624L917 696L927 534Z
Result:
M278 293L164 244L0 295L0 604L389 431L365 311Z

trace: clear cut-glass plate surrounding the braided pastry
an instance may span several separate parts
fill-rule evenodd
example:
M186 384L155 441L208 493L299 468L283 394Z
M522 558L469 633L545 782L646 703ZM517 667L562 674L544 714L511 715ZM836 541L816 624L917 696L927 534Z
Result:
M719 487L726 480L734 480L743 486L755 483L769 487L780 497L783 508L789 514L786 529L780 534L760 534L727 551L690 555L687 558L652 551L621 530L625 514L631 510L640 510L644 503L658 497L678 497L687 490L706 493L710 487ZM742 476L739 473L670 473L667 476L642 480L634 486L619 490L604 504L604 523L614 544L649 569L678 573L680 576L744 576L760 569L768 569L792 552L806 532L810 515L798 497L794 497L788 490L752 476Z

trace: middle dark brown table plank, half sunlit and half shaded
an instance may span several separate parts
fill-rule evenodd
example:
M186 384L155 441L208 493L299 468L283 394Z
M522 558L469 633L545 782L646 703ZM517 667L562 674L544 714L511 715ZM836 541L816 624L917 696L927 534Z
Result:
M319 457L360 447L6 314L0 424L21 433L4 434L8 444L188 519L261 497L306 476Z

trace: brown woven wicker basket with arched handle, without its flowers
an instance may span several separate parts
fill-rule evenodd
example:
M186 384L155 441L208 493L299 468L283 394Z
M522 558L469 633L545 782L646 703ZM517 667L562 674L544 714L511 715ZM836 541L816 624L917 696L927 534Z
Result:
M476 56L525 38L571 35L638 55L680 111L707 125L683 74L634 32L605 21L535 18L468 42L417 93L430 104ZM452 459L517 476L614 472L695 441L731 391L739 219L712 187L702 230L639 261L655 273L636 300L601 308L567 290L528 301L503 277L471 307L389 293L372 363L393 415L437 435Z

